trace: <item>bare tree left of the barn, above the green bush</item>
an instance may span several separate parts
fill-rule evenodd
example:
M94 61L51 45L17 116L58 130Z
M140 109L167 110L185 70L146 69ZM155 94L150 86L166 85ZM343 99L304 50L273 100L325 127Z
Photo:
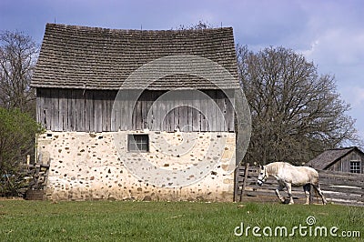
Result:
M39 47L20 32L0 34L0 106L35 116L35 90L30 88Z

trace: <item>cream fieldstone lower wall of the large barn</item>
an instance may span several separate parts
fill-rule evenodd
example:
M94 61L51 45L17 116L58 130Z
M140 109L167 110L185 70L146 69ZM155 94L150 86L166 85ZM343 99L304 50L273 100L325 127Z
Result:
M147 134L149 152L128 152L128 134ZM233 200L234 133L47 131L37 143L47 199Z

